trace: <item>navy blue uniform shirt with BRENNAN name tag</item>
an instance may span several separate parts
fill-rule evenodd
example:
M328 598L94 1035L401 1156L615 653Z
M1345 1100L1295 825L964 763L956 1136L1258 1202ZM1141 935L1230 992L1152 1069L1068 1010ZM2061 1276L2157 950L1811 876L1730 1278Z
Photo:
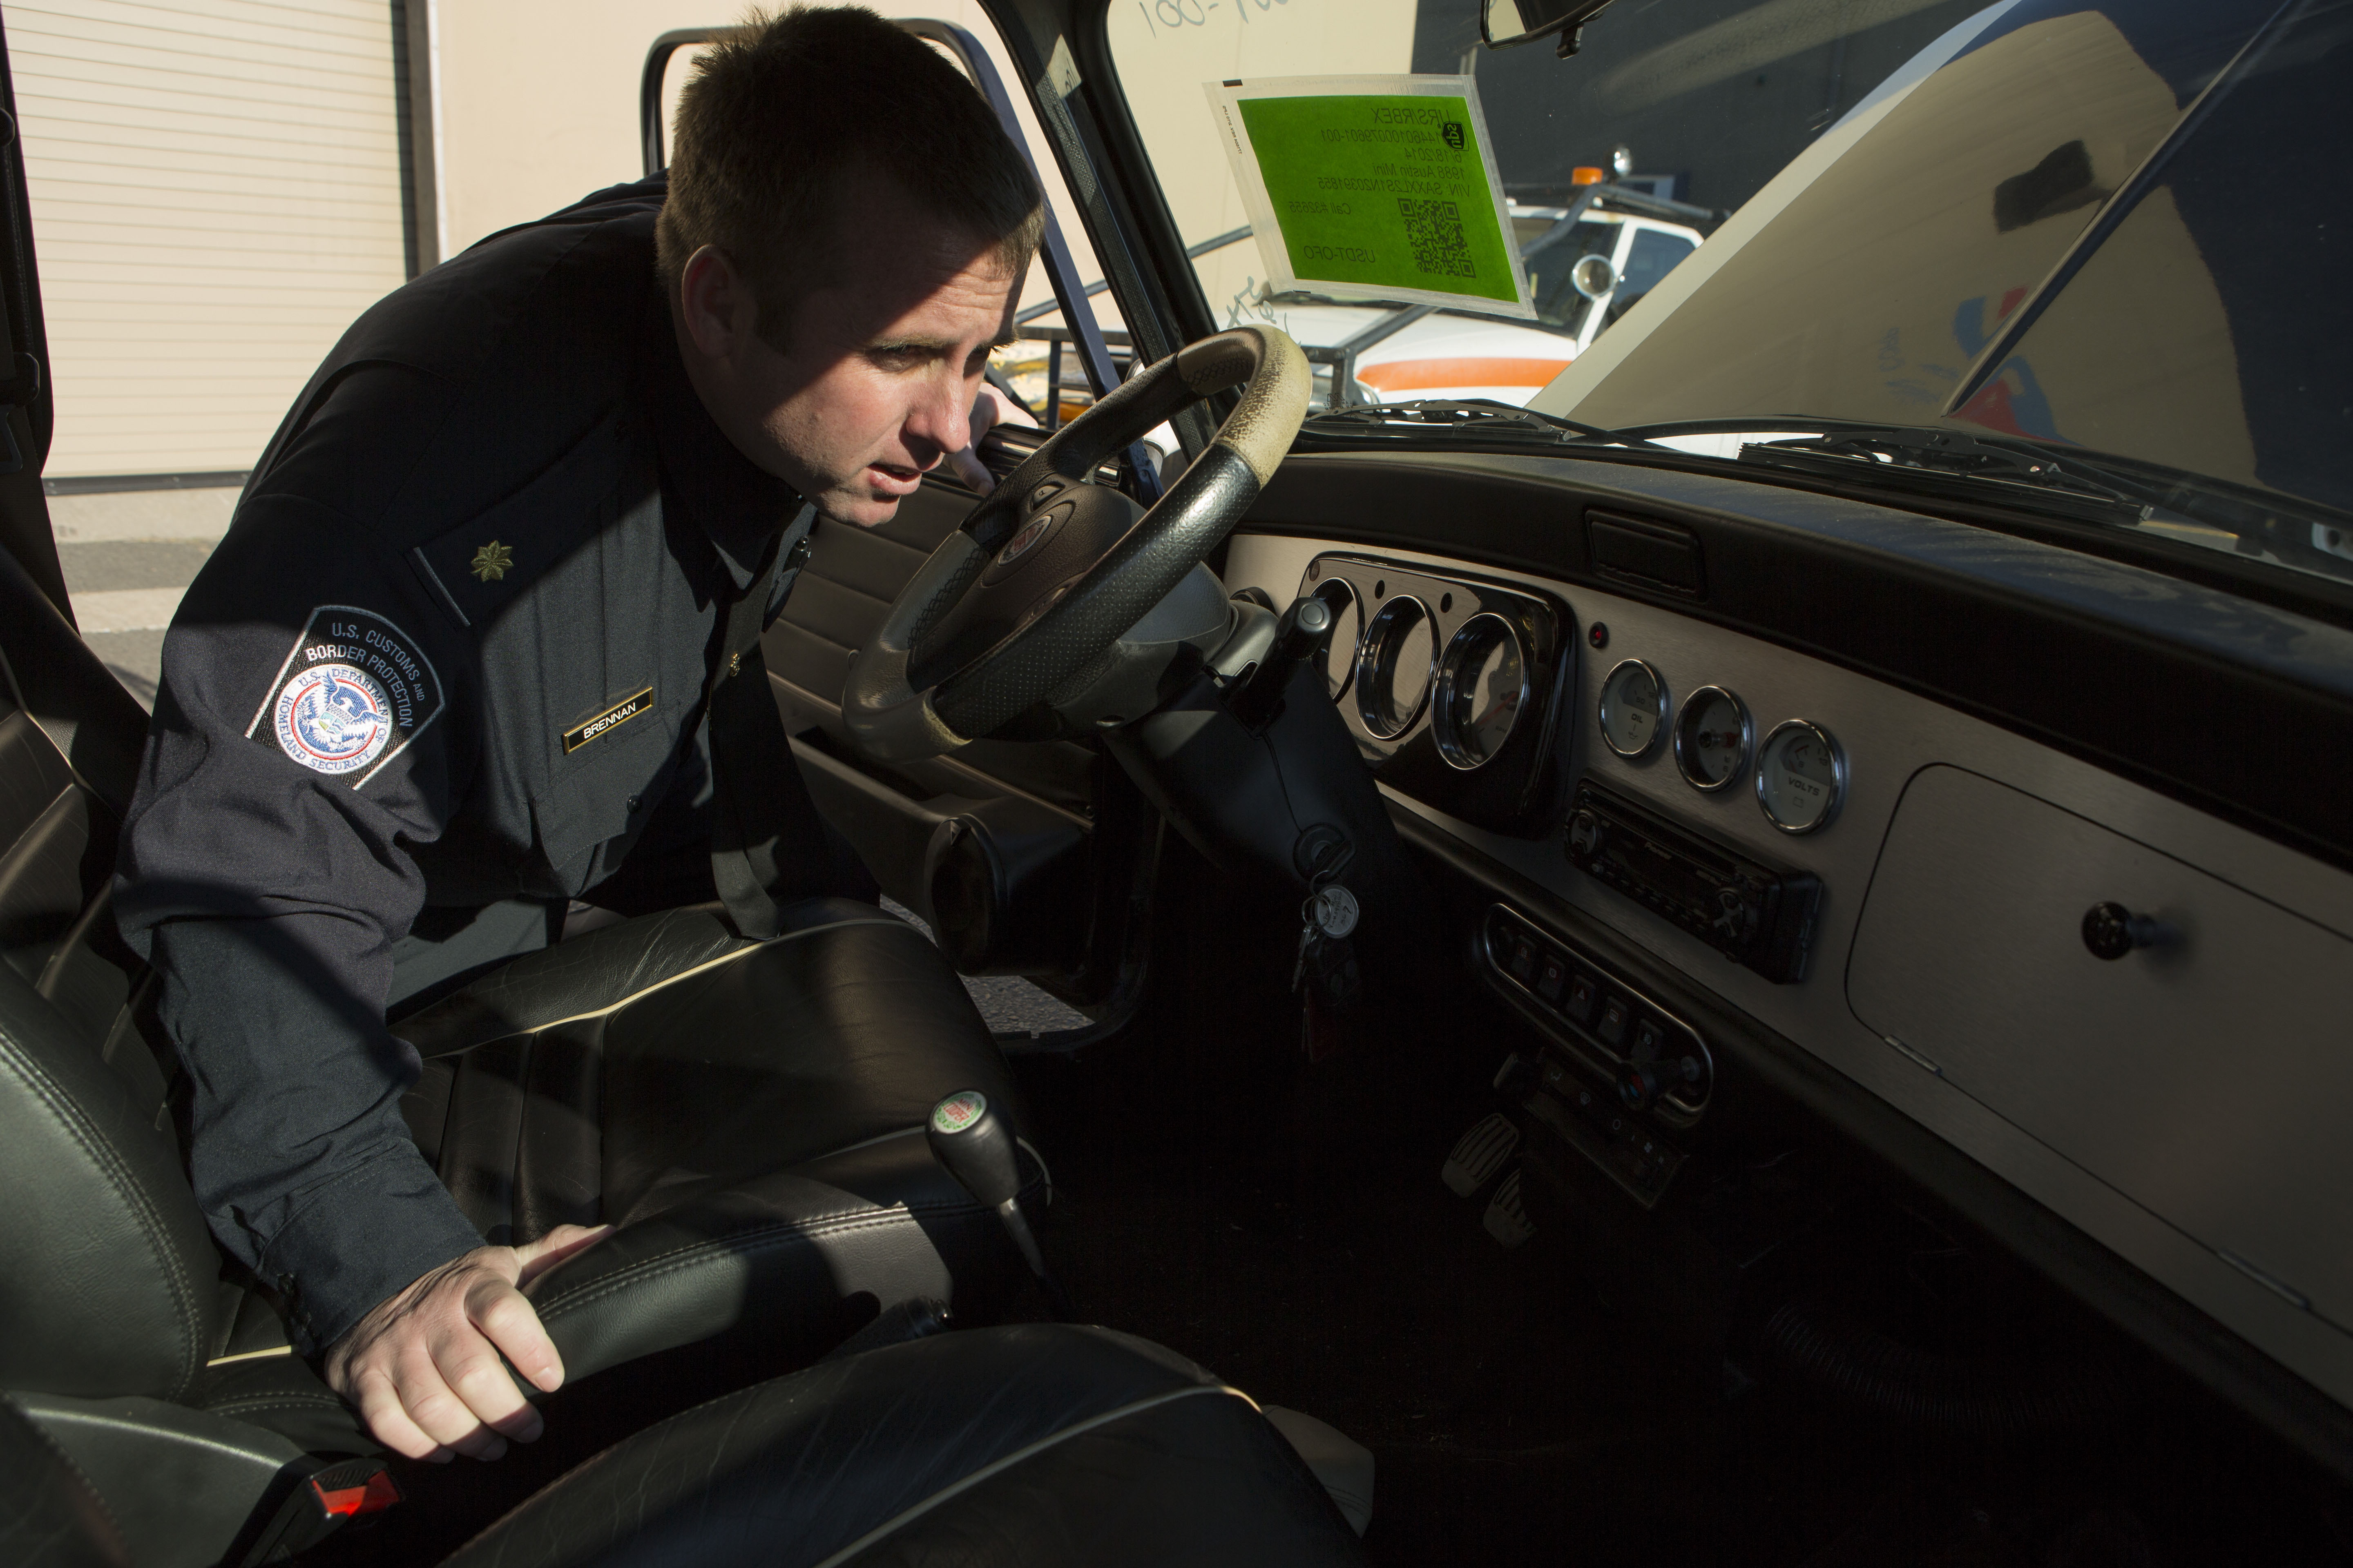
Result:
M393 945L708 837L725 604L802 508L685 378L661 197L602 190L362 315L165 637L115 907L195 1197L306 1352L482 1244L400 1119Z

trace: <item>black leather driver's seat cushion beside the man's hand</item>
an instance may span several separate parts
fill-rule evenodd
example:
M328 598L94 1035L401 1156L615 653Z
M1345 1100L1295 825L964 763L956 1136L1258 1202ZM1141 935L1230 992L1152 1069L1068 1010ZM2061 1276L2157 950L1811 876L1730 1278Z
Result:
M638 917L395 1025L426 1058L409 1126L485 1237L621 1227L529 1286L567 1368L718 1340L774 1373L1026 1279L922 1135L955 1088L1016 1105L962 983L875 905L786 914L767 943L715 905Z

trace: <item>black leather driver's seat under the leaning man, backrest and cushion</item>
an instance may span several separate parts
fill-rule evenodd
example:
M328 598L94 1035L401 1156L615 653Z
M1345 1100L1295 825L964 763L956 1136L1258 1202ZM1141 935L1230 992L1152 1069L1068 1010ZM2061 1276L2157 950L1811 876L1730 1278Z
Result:
M186 1185L176 1063L108 912L144 731L0 552L0 1389L200 1403L351 1450ZM769 943L711 912L624 922L400 1027L435 1060L419 1140L487 1234L621 1222L534 1281L574 1382L713 1340L741 1387L899 1300L972 1321L1021 1286L920 1133L958 1088L1019 1126L1005 1060L939 952L871 905L814 903Z

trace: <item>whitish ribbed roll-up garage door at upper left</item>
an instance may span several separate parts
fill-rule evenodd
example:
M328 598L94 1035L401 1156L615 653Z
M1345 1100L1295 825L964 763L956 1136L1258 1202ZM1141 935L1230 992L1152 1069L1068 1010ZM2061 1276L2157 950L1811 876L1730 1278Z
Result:
M393 0L7 7L49 475L252 468L407 275Z

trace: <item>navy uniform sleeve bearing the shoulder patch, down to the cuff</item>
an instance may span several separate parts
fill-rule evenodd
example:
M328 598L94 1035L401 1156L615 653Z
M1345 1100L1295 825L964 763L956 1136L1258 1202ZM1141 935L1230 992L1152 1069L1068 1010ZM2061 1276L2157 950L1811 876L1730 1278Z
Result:
M473 701L402 555L315 494L247 496L165 637L115 907L188 1070L195 1197L306 1354L482 1244L409 1140L419 1060L384 1027Z

